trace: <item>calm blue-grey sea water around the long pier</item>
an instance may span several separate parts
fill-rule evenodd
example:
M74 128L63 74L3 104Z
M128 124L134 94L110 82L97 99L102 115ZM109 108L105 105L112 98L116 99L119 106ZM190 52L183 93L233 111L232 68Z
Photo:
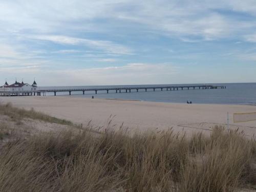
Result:
M211 84L211 83L209 83ZM186 85L186 84L179 84ZM256 83L214 83L216 86L226 86L226 89L206 89L206 90L179 90L179 91L155 91L132 90L131 93L116 93L110 91L72 92L71 97L87 97L91 98L109 98L109 99L132 99L141 101L157 101L157 102L176 102L186 103L219 103L219 104L253 104L256 105ZM40 89L78 89L78 88L109 88L109 87L143 87L152 85L133 85L133 86L80 86L80 87L40 87ZM162 85L154 85L162 86ZM169 84L164 86L177 86L177 84ZM52 96L53 93L47 95ZM68 92L59 92L57 96L69 95Z

